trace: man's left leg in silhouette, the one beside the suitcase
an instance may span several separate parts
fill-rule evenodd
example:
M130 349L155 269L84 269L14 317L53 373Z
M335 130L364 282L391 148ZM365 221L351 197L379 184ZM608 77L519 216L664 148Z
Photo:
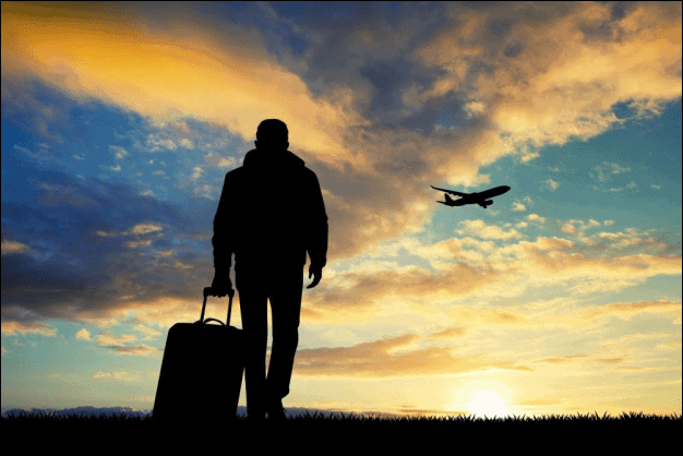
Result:
M254 288L242 288L240 312L244 336L244 386L250 418L265 416L265 350L268 337L267 297Z

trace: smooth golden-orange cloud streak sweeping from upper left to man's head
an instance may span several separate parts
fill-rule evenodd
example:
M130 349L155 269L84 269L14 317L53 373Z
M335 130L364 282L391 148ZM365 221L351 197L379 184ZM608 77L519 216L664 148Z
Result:
M2 77L34 74L79 100L100 98L158 123L192 116L245 140L263 119L281 118L295 147L329 164L362 164L342 136L359 121L348 96L314 98L254 28L214 23L181 3L155 11L154 22L140 10L3 2Z

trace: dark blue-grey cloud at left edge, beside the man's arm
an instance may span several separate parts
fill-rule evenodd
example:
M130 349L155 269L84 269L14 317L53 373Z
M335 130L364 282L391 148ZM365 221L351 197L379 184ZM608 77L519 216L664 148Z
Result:
M199 255L194 249L202 244L187 239L207 230L203 221L212 219L215 207L196 203L190 216L171 204L140 196L127 185L59 171L36 185L40 191L49 188L56 196L35 199L29 206L3 202L3 239L11 232L31 240L22 242L31 245L29 251L12 247L13 252L23 253L2 255L3 331L45 333L53 329L37 322L51 319L110 322L133 299L121 297L144 296L142 301L153 301L168 292L192 296L181 277L197 268L209 274L211 256ZM62 204L69 202L62 197L65 194L86 197L89 203ZM208 239L201 242L202 249L209 249ZM177 256L156 255L169 250L176 250ZM195 267L178 269L177 261Z

